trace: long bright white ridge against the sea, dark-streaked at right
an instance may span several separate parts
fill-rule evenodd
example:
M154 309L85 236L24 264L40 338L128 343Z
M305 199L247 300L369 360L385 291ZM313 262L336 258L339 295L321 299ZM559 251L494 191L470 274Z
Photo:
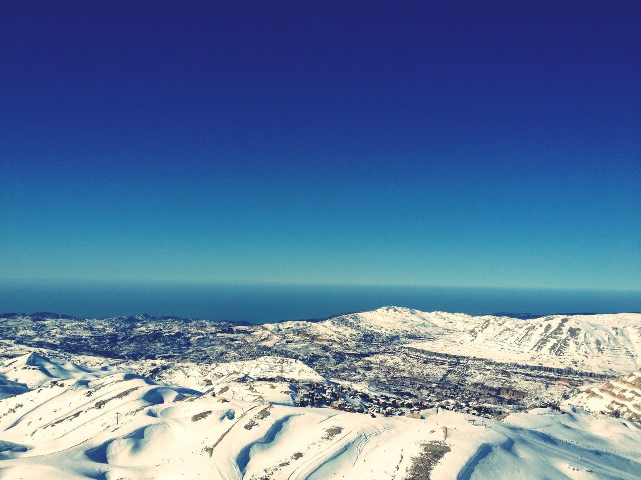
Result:
M277 337L355 347L406 341L412 348L495 362L599 374L641 366L641 314L547 316L531 320L384 307L319 323L263 326ZM270 339L273 344L278 340Z

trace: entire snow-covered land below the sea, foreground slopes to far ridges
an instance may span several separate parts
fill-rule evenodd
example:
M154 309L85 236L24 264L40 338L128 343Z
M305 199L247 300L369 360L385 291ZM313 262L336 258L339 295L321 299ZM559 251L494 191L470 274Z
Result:
M0 317L0 479L639 479L641 315Z

